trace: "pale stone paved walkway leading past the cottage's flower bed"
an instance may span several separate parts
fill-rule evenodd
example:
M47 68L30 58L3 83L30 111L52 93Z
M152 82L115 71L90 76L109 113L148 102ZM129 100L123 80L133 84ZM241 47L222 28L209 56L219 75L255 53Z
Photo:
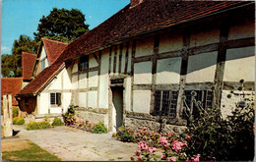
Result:
M14 126L14 131L65 161L129 161L137 148L136 143L112 139L110 133L96 135L65 126L36 131Z

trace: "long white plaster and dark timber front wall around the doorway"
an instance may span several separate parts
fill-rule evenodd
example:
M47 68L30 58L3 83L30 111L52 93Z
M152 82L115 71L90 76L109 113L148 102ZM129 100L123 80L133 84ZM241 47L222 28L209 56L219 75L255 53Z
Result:
M108 116L105 124L112 128L116 113L112 86L124 88L123 108L128 114L124 117L130 118L126 124L133 125L138 114L155 119L156 90L178 92L175 119L182 118L186 90L210 90L213 106L221 106L226 115L227 107L239 99L234 95L236 99L227 100L226 95L237 89L240 80L245 81L248 95L254 95L254 20L238 20L180 27L117 43L89 54L85 71L78 70L78 58L71 68L72 102L102 109Z

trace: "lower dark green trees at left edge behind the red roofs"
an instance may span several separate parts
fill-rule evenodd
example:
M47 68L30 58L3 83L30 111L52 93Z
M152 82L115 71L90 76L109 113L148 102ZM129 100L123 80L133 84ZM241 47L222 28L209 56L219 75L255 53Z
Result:
M20 35L14 41L12 55L2 55L2 75L3 77L22 76L22 52L37 53L38 42L32 40L30 36Z

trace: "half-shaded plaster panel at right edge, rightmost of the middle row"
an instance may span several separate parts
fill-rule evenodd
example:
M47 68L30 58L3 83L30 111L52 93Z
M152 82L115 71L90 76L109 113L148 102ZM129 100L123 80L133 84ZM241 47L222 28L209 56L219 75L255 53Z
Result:
M226 50L224 81L255 81L254 47Z

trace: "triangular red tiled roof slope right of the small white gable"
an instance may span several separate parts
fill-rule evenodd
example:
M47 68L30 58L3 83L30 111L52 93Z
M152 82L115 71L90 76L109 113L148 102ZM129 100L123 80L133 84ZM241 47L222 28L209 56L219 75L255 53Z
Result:
M68 45L67 43L45 38L42 38L42 42L44 44L50 65L52 65L56 61L56 59L60 56L60 54Z

